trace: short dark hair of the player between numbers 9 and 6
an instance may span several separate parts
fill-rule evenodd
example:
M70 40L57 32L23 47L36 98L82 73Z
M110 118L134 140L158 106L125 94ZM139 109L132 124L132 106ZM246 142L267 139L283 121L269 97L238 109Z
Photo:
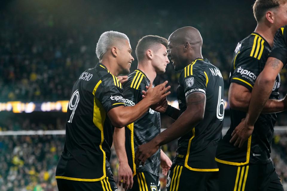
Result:
M145 57L146 50L153 48L155 51L160 48L160 44L167 47L167 39L161 36L148 35L144 36L138 41L138 45L135 49L135 54L137 55L138 61L141 61Z

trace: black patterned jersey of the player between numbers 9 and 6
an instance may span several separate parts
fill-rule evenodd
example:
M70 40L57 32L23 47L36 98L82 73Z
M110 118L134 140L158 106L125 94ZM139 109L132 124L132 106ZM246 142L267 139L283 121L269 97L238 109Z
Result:
M129 75L128 81L123 84L123 97L127 106L133 106L142 100L142 90L149 86L149 79L139 69ZM126 130L126 154L129 166L133 175L137 172L149 172L153 175L159 175L160 167L160 149L148 158L144 166L140 165L135 168L135 151L139 145L145 144L152 140L161 132L160 113L149 109L137 121L125 127Z

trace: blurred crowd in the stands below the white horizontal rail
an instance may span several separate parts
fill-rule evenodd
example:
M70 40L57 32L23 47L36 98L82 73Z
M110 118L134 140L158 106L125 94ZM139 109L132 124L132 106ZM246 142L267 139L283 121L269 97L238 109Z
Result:
M280 136L280 141L277 141L277 136ZM274 142L276 147L285 148L286 155L287 134L276 135ZM57 191L55 170L64 143L65 135L0 136L0 190ZM173 159L176 147L177 142L173 141L164 145L162 150ZM271 156L286 189L287 166L282 160L282 152L273 148ZM117 182L118 160L113 147L110 163ZM161 190L164 191L167 179L161 175L160 181Z

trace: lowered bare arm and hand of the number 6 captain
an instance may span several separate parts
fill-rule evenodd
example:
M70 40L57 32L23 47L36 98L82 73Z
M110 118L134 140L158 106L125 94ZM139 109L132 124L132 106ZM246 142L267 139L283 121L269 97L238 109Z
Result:
M187 109L178 119L151 141L138 147L135 163L144 165L147 158L153 155L161 145L179 138L192 130L204 117L206 97L203 93L192 93L186 98ZM190 117L192 116L192 117Z

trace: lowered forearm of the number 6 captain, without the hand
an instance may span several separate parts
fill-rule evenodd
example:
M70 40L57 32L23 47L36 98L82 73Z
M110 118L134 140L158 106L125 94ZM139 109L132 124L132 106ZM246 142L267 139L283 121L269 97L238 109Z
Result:
M202 118L196 116L198 116L196 112L184 111L170 127L157 135L152 141L161 146L189 133L202 120Z

